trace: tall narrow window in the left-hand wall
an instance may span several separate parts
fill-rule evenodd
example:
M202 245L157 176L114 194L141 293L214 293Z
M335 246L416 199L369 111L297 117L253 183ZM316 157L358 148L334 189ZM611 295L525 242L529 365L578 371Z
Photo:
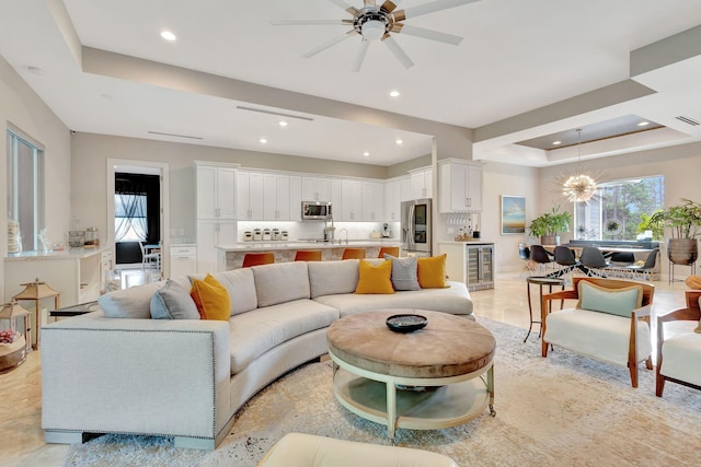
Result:
M9 253L41 249L45 226L44 147L20 130L8 129L8 218L19 224L20 243Z

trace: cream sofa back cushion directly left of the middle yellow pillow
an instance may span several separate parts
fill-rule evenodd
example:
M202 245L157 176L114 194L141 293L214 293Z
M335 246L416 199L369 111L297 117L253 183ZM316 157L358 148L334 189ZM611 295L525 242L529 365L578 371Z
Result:
M357 259L309 262L311 297L353 293L358 285L358 264Z

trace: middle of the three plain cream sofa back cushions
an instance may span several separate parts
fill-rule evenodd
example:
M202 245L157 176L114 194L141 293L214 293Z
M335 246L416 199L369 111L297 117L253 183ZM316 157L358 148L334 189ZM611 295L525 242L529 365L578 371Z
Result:
M252 269L258 307L309 299L307 264L292 261L254 266Z

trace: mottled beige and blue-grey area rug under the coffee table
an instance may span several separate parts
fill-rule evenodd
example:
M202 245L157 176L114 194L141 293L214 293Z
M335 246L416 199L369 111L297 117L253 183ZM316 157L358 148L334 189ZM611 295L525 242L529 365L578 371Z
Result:
M434 451L460 466L698 465L701 392L667 383L654 394L654 372L640 387L627 369L562 349L543 359L536 336L480 318L496 337L496 417L487 411L451 429L398 430L394 444ZM311 363L262 390L238 413L217 450L174 448L172 440L104 435L72 445L66 466L254 467L289 432L390 445L387 429L341 407L331 362Z

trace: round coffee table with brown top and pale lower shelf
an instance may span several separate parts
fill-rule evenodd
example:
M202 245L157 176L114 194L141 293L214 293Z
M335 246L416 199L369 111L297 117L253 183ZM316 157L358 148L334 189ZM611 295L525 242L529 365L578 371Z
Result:
M386 320L397 314L428 318L421 330L399 334ZM346 409L398 428L436 430L494 411L494 336L473 320L424 310L379 310L331 325L333 392Z

